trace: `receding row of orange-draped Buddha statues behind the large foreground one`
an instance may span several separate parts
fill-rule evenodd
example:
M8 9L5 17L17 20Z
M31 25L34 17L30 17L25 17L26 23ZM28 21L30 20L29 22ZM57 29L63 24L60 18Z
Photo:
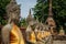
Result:
M52 33L48 30L48 25L43 24L42 22L34 20L34 18L31 14L31 10L29 13L29 16L26 18L28 21L28 28L26 28L26 41L34 43L34 44L44 44L47 41L51 41ZM42 42L42 43L37 43ZM51 43L50 43L51 44Z

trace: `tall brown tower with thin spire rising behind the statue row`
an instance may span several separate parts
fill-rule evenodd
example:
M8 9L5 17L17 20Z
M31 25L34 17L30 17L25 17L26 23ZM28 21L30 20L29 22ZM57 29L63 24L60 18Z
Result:
M48 16L47 16L45 23L48 25L48 29L53 33L54 29L56 29L56 23L53 19L53 13L52 13L52 0L50 1Z

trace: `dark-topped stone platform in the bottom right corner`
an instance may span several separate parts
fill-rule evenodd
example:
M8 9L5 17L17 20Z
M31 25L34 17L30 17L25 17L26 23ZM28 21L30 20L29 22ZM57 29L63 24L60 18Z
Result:
M66 35L55 35L53 37L53 44L66 44Z

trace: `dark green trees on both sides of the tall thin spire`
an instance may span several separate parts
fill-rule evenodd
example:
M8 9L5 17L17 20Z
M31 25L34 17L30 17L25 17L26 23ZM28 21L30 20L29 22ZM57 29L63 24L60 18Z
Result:
M33 8L34 18L38 16L38 20L44 23L48 15L50 0L37 0L36 2L36 6ZM52 12L57 29L59 26L66 29L66 0L53 0Z

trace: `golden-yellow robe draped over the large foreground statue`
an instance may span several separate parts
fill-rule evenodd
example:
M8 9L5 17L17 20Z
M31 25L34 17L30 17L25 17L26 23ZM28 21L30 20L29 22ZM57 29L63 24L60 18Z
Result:
M10 33L10 44L24 44L23 35L15 24L13 24Z

